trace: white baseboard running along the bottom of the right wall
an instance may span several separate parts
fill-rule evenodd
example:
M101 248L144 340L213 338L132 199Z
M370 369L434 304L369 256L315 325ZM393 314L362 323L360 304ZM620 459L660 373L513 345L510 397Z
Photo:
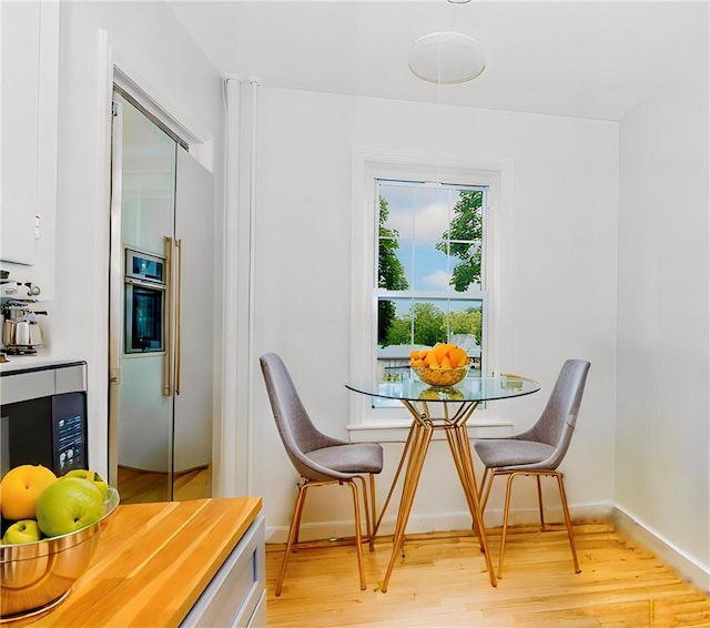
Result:
M611 520L627 538L636 540L653 551L663 563L678 571L683 580L702 591L710 592L710 568L700 565L691 556L674 547L672 543L619 507L613 508Z

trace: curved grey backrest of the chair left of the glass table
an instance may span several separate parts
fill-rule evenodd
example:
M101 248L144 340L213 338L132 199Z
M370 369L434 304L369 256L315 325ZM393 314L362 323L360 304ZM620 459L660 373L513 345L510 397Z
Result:
M308 458L308 452L342 445L343 442L326 436L315 427L278 355L267 353L258 361L278 435L296 470L302 477L314 482L349 477L347 474L326 469Z

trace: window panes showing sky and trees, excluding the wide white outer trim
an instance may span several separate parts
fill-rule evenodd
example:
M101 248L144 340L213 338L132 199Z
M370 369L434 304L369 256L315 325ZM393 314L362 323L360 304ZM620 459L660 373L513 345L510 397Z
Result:
M453 342L480 375L487 188L376 179L376 374L408 376L413 348ZM396 405L374 399L375 407Z

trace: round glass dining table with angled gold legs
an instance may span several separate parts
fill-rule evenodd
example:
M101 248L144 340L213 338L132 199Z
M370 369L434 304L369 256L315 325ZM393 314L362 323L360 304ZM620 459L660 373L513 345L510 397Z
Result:
M495 587L497 586L496 573L488 551L486 528L480 510L476 473L466 424L480 403L530 395L537 393L540 389L540 385L527 377L507 374L496 377L475 377L469 375L455 386L436 387L420 382L414 375L406 373L406 369L404 371L405 377L402 381L381 382L376 385L353 383L345 385L346 388L363 395L398 399L409 411L413 418L399 459L399 466L373 533L377 534L382 518L404 470L392 557L383 580L382 591L387 591L397 556L404 549L405 529L417 485L419 484L424 460L435 431L443 431L446 434L452 457L468 503L474 529L478 535L478 544L486 560L490 585Z

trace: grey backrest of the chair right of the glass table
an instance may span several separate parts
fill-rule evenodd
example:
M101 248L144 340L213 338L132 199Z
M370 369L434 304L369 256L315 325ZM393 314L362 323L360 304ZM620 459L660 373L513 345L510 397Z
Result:
M530 429L516 436L555 447L548 459L536 464L536 467L555 469L562 462L575 431L590 366L591 363L586 359L567 359L542 414Z

